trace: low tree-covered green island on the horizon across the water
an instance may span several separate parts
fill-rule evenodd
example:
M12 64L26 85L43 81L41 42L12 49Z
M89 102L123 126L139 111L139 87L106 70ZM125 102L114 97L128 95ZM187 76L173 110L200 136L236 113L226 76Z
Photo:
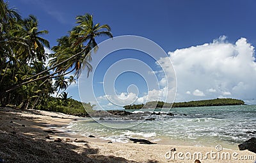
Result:
M244 105L243 100L233 98L216 98L212 100L198 100L190 102L167 103L161 101L147 102L146 104L125 105L124 109L150 109L150 108L170 108L170 107L200 107L200 106L222 106L222 105Z

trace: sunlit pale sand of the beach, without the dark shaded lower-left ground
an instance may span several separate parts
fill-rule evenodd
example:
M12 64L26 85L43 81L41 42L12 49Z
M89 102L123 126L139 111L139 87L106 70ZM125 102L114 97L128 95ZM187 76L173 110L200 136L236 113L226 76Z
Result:
M179 144L164 145L164 144L108 143L107 141L97 139L97 136L96 138L75 136L75 135L69 134L69 132L63 132L63 129L65 129L68 123L71 123L72 121L75 121L75 120L81 120L81 118L77 118L75 116L69 116L61 113L51 113L47 111L35 111L35 110L28 110L25 112L21 112L19 110L10 109L10 108L0 108L0 113L1 113L0 114L0 121L1 121L0 131L4 133L10 134L13 131L15 131L16 132L15 135L20 135L20 136L24 135L26 137L31 137L32 139L44 140L45 143L52 142L57 137L60 137L63 140L68 138L71 140L80 139L80 140L87 141L88 143L74 143L74 142L69 143L76 146L76 148L67 147L68 148L67 150L72 152L75 151L77 153L76 157L81 156L81 157L86 157L87 159L91 159L90 161L85 161L85 162L132 162L132 161L134 162L195 162L195 159L200 159L201 162L210 162L210 163L211 162L250 162L252 163L256 160L256 153L253 153L248 150L239 151L239 150L224 149L218 152L216 151L215 147L179 146ZM12 121L13 123L10 123L10 121ZM22 127L22 125L25 125L25 127ZM55 133L49 134L44 132L45 130L52 130ZM45 136L50 136L51 139L45 139ZM176 151L170 151L172 148L175 148ZM15 149L12 149L12 150L15 151ZM54 149L49 149L49 150L54 150ZM172 155L170 155L170 153ZM202 153L202 158L200 155L201 153ZM26 156L26 153L23 153L23 155ZM198 155L199 155L199 158L197 158ZM228 155L230 155L230 158L228 157ZM0 157L1 157L1 152L0 152ZM250 160L242 160L242 159L250 159ZM61 160L61 156L60 156L60 160Z

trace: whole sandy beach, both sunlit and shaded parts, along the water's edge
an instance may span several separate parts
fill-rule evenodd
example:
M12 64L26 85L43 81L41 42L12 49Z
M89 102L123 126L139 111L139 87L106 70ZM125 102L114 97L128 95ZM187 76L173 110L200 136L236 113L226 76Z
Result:
M67 125L79 120L82 118L61 113L20 111L1 107L0 159L4 162L195 162L195 159L201 162L255 162L256 160L256 153L248 150L239 151L238 148L217 151L214 146L180 146L175 143L109 143L96 135L95 137L77 136L67 132ZM171 151L173 148L175 150Z

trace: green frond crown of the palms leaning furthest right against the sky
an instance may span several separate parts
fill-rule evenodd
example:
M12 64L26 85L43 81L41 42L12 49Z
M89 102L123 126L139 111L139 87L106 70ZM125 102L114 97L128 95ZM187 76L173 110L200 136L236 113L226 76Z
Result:
M59 45L53 47L54 59L50 61L51 66L56 66L56 71L60 74L74 72L74 75L79 77L81 68L87 68L88 74L92 71L90 61L92 56L90 50L95 48L97 50L97 42L95 38L98 36L108 36L110 38L113 35L110 32L108 24L100 26L100 24L93 23L93 15L86 13L85 15L79 15L76 17L77 26L70 31L70 36L65 36L59 40ZM67 46L68 45L68 46ZM65 65L60 64L66 59L70 58ZM59 65L60 64L60 65Z

